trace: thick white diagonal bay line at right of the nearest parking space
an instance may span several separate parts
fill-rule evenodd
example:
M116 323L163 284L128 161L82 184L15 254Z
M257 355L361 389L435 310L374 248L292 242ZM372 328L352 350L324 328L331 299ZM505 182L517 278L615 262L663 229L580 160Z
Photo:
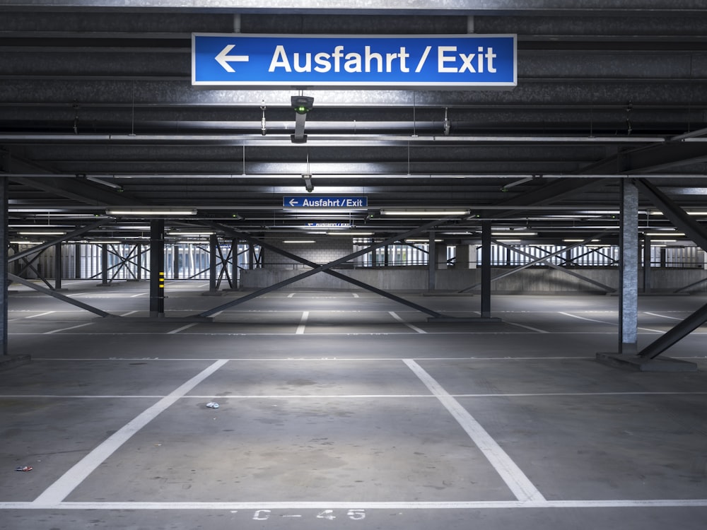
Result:
M513 492L515 498L521 502L537 502L544 505L545 497L535 488L525 473L510 459L508 454L501 448L496 440L489 435L481 424L469 414L467 409L462 407L431 375L412 359L403 359L403 363L409 367L421 382L432 392L440 403L457 420L462 429L467 432L472 441L477 444L484 457L489 460L493 469L501 476L508 488Z

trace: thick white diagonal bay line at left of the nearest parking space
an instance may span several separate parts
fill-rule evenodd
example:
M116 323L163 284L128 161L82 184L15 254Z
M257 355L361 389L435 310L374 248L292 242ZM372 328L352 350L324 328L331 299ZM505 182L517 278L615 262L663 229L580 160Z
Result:
M86 457L83 457L83 459L74 464L69 471L66 471L56 482L44 490L33 503L36 505L54 505L62 502L79 484L86 480L90 473L93 473L100 464L103 464L110 455L116 452L122 444L130 440L136 432L150 423L160 413L175 404L176 401L185 396L185 394L196 387L197 384L204 381L206 377L209 377L209 375L216 372L216 370L226 363L228 363L228 360L217 360L216 363L212 363L205 370L201 370L201 372L192 377L192 379L189 379L189 381L168 394L168 396L160 399L156 404L147 408L127 424L123 425L122 428L107 437L103 443L88 453Z

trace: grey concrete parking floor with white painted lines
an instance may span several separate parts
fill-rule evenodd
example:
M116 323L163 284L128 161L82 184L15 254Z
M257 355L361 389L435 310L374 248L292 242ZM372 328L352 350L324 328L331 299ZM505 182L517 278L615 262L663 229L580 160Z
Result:
M699 372L630 372L614 297L64 287L122 318L13 287L0 529L705 527L707 329L668 353ZM641 298L639 346L705 302Z

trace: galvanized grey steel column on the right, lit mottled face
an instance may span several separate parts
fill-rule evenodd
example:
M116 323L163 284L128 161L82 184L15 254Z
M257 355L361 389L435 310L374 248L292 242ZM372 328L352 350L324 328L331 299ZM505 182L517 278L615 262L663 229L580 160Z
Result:
M638 353L638 188L621 179L619 353Z

